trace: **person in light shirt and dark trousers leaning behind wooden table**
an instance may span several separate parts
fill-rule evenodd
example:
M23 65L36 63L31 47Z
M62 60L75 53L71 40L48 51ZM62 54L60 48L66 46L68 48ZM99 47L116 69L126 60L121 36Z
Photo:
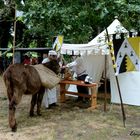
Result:
M88 76L82 57L77 57L73 62L68 63L65 67L70 68L73 72L76 73L77 80L85 81L85 78ZM77 90L79 93L88 94L87 87L77 86ZM84 101L84 98L78 96L77 101Z

